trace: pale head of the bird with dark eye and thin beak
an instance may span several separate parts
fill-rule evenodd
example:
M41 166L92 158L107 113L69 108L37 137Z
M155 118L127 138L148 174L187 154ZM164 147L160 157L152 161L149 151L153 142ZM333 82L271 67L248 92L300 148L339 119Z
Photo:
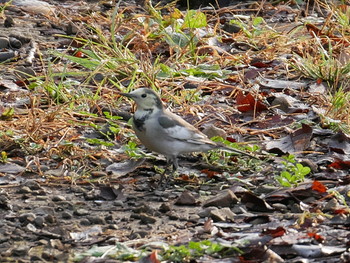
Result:
M130 93L120 93L120 95L134 100L138 110L160 110L163 108L157 93L148 88L139 88Z

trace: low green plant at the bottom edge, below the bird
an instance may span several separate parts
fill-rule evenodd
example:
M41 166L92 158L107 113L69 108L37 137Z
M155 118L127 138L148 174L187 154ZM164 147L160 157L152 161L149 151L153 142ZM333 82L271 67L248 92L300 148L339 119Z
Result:
M162 254L162 259L167 260L167 262L192 262L192 260L204 255L224 258L225 256L239 253L240 250L238 248L226 247L210 240L190 241L187 245L170 246Z

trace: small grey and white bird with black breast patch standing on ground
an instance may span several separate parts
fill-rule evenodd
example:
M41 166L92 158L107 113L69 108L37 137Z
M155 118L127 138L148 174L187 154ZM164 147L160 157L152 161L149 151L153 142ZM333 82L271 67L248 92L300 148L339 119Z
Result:
M192 152L206 152L223 148L248 155L248 153L217 144L181 117L165 109L159 96L151 89L139 88L130 93L119 93L135 101L137 109L132 126L139 140L151 151L161 153L178 168L177 156ZM161 181L164 177L162 175Z

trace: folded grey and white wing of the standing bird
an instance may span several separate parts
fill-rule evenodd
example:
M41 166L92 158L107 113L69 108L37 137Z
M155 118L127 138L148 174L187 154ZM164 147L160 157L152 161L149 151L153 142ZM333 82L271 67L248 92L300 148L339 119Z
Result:
M194 144L213 144L206 135L198 129L183 120L181 117L166 112L158 117L159 125L162 127L167 136L174 140L187 141Z

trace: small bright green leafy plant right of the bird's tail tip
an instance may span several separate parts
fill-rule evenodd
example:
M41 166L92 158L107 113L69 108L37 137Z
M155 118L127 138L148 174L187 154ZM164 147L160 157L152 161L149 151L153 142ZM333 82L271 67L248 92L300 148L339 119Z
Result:
M311 169L307 166L303 166L301 163L297 163L295 156L290 154L282 157L285 161L282 161L284 170L276 177L280 185L285 187L296 186L304 181L305 175L311 172Z

